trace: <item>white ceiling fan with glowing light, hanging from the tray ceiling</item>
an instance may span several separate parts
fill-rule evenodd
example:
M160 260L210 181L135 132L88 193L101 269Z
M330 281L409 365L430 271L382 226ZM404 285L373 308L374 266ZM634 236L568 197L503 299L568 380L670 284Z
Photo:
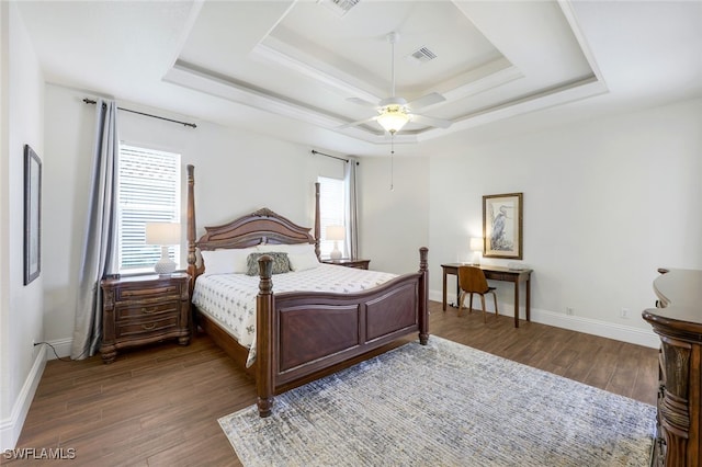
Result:
M451 126L451 121L443 118L434 118L427 115L420 115L414 111L426 107L427 105L435 104L445 101L445 98L438 92L423 95L411 102L407 102L406 99L395 95L395 43L399 39L399 34L392 32L387 35L387 42L392 47L392 88L390 96L383 99L377 104L369 101L364 101L359 98L349 98L348 101L356 104L374 107L377 111L377 115L370 118L365 118L358 122L348 123L341 125L339 128L348 128L351 126L362 125L369 122L377 122L386 132L394 136L399 132L408 122L417 122L429 126L439 128L448 128Z

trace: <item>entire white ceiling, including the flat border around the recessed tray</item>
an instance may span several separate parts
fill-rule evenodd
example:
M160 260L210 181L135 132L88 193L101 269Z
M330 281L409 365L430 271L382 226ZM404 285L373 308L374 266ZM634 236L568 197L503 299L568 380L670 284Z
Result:
M342 153L387 153L376 122L341 126L377 115L350 98L392 96L393 71L452 123L410 122L408 153L702 96L702 1L18 4L48 82Z

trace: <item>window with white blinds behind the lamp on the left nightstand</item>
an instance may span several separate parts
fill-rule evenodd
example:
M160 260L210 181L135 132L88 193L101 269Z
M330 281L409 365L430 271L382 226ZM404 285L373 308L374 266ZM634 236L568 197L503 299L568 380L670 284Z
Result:
M161 248L146 244L146 223L180 221L180 155L121 145L117 164L117 269L152 271ZM179 263L180 246L169 255Z

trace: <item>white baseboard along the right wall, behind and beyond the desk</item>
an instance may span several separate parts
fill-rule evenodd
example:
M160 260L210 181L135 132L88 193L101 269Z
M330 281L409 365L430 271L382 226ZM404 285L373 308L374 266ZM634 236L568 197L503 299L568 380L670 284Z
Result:
M443 296L441 292L429 291L429 299L434 301L442 301ZM454 295L449 295L446 300L449 303L455 301ZM509 310L509 316L512 316L513 304L500 305L500 311ZM491 311L491 300L486 300L486 308ZM523 314L523 307L521 309ZM500 312L501 314L501 312ZM507 312L506 312L507 314ZM653 331L634 328L632 326L619 324L610 321L601 321L591 318L584 318L579 316L568 316L554 311L531 309L531 320L540 322L542 324L548 324L556 328L569 329L571 331L585 332L587 334L599 335L601 338L614 339L622 342L629 342L636 345L643 345L652 349L658 349L660 346L660 338ZM431 330L430 330L431 332Z

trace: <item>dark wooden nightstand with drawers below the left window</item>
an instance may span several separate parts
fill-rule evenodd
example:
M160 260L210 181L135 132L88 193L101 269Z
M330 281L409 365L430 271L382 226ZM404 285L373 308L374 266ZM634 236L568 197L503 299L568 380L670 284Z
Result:
M188 345L189 283L183 273L103 280L102 361L114 362L120 349L170 338Z

